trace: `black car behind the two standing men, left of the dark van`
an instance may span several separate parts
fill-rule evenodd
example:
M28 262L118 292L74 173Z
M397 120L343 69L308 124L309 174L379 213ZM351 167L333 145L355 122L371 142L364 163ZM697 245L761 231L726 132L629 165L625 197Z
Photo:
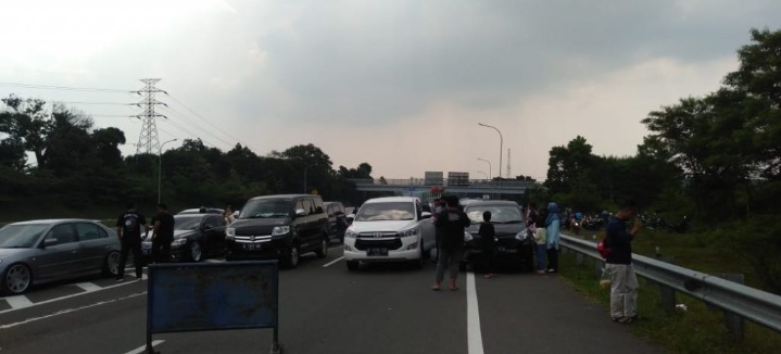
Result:
M172 261L201 262L219 255L225 244L225 226L218 214L174 215L174 241L171 242ZM141 243L141 252L151 257L152 239Z

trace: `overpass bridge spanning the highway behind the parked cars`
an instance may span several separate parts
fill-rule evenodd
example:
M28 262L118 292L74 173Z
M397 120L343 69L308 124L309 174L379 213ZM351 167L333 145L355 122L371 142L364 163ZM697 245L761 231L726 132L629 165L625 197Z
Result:
M524 195L526 189L534 186L536 182L528 180L488 180L488 179L350 179L355 184L355 189L366 192L393 192L401 195L424 195L431 193L438 188L444 189L446 193L465 197L497 194L497 195ZM433 188L433 189L432 189Z

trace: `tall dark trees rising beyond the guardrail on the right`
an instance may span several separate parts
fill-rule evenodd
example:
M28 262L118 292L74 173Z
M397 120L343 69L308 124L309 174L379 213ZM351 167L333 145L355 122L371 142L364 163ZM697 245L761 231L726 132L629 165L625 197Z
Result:
M530 200L599 212L634 199L668 220L688 215L781 293L781 30L753 29L738 58L715 92L648 113L634 155L597 156L583 137L552 148Z

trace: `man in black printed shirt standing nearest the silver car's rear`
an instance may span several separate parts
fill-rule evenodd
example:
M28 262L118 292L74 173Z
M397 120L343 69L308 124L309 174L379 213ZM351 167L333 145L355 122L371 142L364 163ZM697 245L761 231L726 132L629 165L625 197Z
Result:
M136 211L135 203L127 203L127 211L116 219L116 235L122 242L122 255L117 268L116 281L125 280L125 264L127 254L133 251L133 263L136 265L136 277L141 279L143 275L143 257L141 256L141 226L143 226L146 239L149 236L147 219Z

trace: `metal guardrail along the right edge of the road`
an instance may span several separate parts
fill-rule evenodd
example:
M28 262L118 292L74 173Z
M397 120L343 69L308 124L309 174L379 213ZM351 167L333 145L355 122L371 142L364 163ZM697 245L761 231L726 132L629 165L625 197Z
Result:
M593 242L563 235L560 244L604 262ZM781 332L779 295L642 255L633 254L632 265L643 278Z

